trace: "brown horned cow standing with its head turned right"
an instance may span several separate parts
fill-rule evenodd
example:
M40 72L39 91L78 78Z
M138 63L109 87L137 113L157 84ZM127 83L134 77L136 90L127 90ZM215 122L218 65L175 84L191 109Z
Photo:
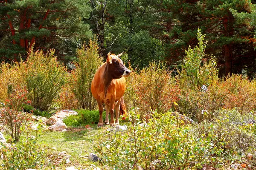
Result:
M102 112L103 103L106 108L105 124L109 125L108 113L110 112L111 121L110 125L119 125L118 114L126 113L123 94L125 93L125 78L131 73L122 62L119 55L108 53L107 62L102 64L96 74L94 75L91 91L93 97L97 100L99 105L99 124L98 127L103 125ZM116 121L114 122L114 107L116 108Z

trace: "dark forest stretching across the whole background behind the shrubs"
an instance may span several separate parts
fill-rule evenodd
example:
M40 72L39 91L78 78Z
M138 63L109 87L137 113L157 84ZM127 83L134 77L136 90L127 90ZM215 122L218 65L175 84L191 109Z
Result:
M68 65L96 37L102 56L125 51L122 59L134 68L164 60L174 69L198 44L200 28L220 77L253 78L255 26L255 0L0 0L0 61L26 60L34 44L34 50L54 48Z

